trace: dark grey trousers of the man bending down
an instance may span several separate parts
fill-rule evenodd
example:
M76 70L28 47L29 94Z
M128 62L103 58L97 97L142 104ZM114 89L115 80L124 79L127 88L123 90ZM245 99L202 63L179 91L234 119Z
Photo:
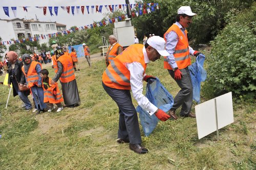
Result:
M111 88L104 85L104 83L102 83L102 86L119 108L119 129L117 138L129 139L131 144L141 143L137 111L133 105L130 90Z

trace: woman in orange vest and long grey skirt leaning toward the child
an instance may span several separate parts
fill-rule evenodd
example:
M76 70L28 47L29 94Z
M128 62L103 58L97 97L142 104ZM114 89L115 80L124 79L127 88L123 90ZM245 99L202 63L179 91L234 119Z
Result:
M67 107L79 106L80 97L73 69L73 60L71 56L64 54L60 46L56 47L55 56L57 63L54 63L54 65L57 65L57 72L51 84L60 81L64 103Z

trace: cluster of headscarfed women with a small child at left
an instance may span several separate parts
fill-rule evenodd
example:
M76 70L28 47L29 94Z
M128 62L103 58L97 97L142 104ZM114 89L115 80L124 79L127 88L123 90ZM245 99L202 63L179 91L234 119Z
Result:
M21 60L18 55L10 51L6 53L8 61L8 86L12 84L13 96L18 95L23 101L26 111L32 109L28 98L32 94L34 110L36 114L55 109L57 112L63 109L61 102L66 107L76 107L80 104L80 98L75 79L74 69L77 67L77 56L74 48L69 54L65 47L53 44L54 55L52 64L55 76L48 77L49 71L42 68L42 64L33 60L32 55L24 54ZM76 60L75 60L76 59ZM79 69L78 69L79 70ZM59 91L57 81L60 81L62 93Z

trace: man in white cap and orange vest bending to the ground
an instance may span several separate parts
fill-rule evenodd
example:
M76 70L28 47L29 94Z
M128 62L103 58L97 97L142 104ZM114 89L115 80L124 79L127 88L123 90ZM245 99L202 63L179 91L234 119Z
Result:
M142 94L143 80L155 79L145 74L146 65L150 61L156 61L161 55L168 55L164 46L165 41L159 36L148 39L145 45L133 44L115 57L102 75L103 88L119 108L117 142L130 142L130 149L139 154L145 154L148 150L141 145L139 122L130 90L132 89L134 99L148 114L155 114L162 121L170 117Z

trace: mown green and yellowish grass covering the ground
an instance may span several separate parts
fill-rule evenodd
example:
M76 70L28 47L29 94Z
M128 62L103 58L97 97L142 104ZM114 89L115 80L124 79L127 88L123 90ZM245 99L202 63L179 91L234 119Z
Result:
M179 88L162 67L163 59L152 62L146 73L176 95ZM199 140L192 118L159 122L148 137L141 128L149 153L138 155L115 141L118 108L101 85L103 58L92 68L80 59L80 69L81 105L59 113L25 112L12 93L5 109L9 89L0 85L0 169L255 169L255 101L234 103L235 121L220 130L219 140L216 133Z

